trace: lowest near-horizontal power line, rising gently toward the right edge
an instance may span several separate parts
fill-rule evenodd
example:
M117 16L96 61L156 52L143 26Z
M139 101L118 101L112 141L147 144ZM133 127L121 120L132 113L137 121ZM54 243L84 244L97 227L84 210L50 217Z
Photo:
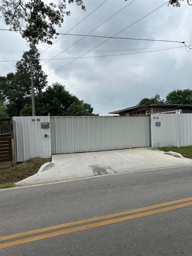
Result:
M183 47L185 47L185 46L178 46L178 47L172 47L172 48L167 48L167 49L157 49L157 50L152 50L152 51L129 52L129 53L109 54L109 55L99 55L99 56L87 56L87 57L79 57L79 59L89 59L89 58L99 58L99 57L109 57L109 56L122 56L122 55L138 54L138 53L149 53L149 52L178 49L178 48L183 48ZM76 59L76 58L41 59L41 61L43 61L43 60L69 60L69 59ZM2 60L0 62L16 62L16 61L17 60Z

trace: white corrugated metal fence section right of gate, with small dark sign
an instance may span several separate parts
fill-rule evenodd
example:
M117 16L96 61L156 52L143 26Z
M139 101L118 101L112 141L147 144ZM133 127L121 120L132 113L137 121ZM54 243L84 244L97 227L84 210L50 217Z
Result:
M161 126L156 126L156 122L161 122ZM192 114L151 115L151 144L152 147L191 146Z

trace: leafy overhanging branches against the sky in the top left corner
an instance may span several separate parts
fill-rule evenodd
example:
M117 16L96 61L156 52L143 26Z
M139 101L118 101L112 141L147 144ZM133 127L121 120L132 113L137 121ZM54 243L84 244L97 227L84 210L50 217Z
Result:
M70 15L67 4L76 3L85 11L82 0L0 0L0 11L5 24L19 31L32 45L39 42L52 44L57 37L56 27L61 27L64 16ZM48 3L47 3L48 2Z

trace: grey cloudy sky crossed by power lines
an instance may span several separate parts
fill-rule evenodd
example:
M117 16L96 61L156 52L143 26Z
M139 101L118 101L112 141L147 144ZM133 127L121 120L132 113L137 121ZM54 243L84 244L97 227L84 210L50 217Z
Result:
M85 0L86 12L74 4L70 5L71 16L65 18L58 32L66 33L103 2L104 0ZM130 2L130 0L106 1L70 33L88 34ZM163 0L136 0L93 31L91 35L114 36L165 2ZM2 18L0 19L0 28L7 28ZM164 5L118 36L188 42L191 32L192 6L182 2L180 8ZM20 60L22 52L16 51L29 49L25 40L15 32L1 31L0 34L1 60ZM56 51L65 50L80 38L79 36L62 37L42 53L41 59L53 58L58 54ZM85 51L105 40L105 38L86 37L56 59L79 57ZM110 39L95 48L95 51L85 54L84 57L135 53L179 46L182 44ZM38 45L40 51L47 47L46 44ZM44 72L50 74L70 61L66 59L52 60L43 65L46 61L42 60L41 64ZM15 62L2 62L0 65L0 75L15 71ZM160 94L161 98L165 98L174 89L192 89L192 51L187 52L185 48L178 48L148 53L77 59L48 76L49 84L56 81L65 85L79 99L90 103L94 108L94 113L106 115L113 110L136 105L142 98L153 97L157 93Z

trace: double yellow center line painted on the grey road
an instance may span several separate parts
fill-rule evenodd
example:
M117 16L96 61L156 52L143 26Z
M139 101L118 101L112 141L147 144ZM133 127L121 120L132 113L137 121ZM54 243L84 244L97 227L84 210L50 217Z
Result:
M187 202L187 203L184 203L184 202ZM2 236L2 237L0 237L0 249L19 245L19 244L25 244L25 243L29 243L29 242L33 242L33 241L38 241L38 240L45 239L45 238L69 234L69 233L73 233L73 232L77 232L77 231L101 227L101 226L114 224L114 223L118 223L118 222L122 222L122 221L126 221L126 220L137 219L137 218L141 218L141 217L145 217L145 216L154 215L157 213L163 213L163 212L167 212L167 211L171 211L171 210L180 209L180 208L187 207L187 206L192 206L192 197L183 198L183 199L166 202L166 203L162 203L162 204L151 205L151 206L147 206L147 207L143 207L143 208L127 210L124 212L107 214L107 215L94 217L94 218L90 218L90 219L78 220L78 221L64 223L64 224L60 224L60 225L56 225L56 226L30 230L30 231L17 233L17 234L13 234L13 235ZM156 209L156 208L159 208L159 209ZM156 210L154 210L154 209L156 209ZM136 214L133 214L133 213L136 213ZM126 216L120 217L123 215L126 215ZM108 220L105 220L105 219L108 219ZM102 220L105 220L105 221L102 221ZM93 222L93 223L90 223L90 222ZM90 224L82 225L85 223L86 224L90 223ZM80 225L80 226L71 227L71 226L76 226L76 225ZM70 227L70 228L67 228L67 227ZM54 231L54 232L49 232L49 231L53 231L56 229L60 229L60 230ZM43 234L39 234L39 233L43 233ZM35 235L35 234L38 234L38 235ZM26 237L26 238L20 239L20 237ZM2 241L6 241L6 240L12 240L12 241L9 241L6 243L1 243Z

